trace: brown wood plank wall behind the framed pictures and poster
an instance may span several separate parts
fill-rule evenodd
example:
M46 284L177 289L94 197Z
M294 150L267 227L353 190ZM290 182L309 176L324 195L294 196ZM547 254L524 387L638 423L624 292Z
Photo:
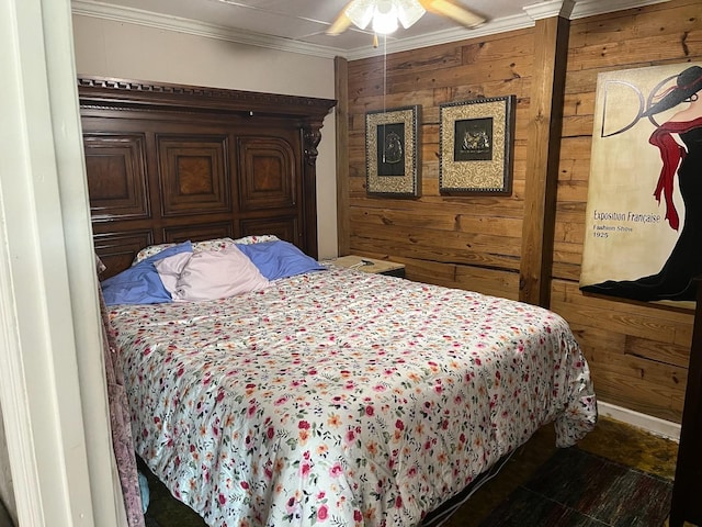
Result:
M348 63L350 253L407 266L411 280L519 299L534 30ZM578 289L595 90L601 71L702 60L702 2L670 2L570 22L562 111L550 307L574 328L601 401L680 422L692 314L653 304L585 296ZM385 94L384 87L385 86ZM439 105L517 96L510 197L439 193ZM365 193L365 112L422 106L422 189L417 200ZM561 112L559 112L561 113ZM347 145L342 145L347 146ZM545 245L548 247L548 244ZM551 249L550 249L551 250Z

